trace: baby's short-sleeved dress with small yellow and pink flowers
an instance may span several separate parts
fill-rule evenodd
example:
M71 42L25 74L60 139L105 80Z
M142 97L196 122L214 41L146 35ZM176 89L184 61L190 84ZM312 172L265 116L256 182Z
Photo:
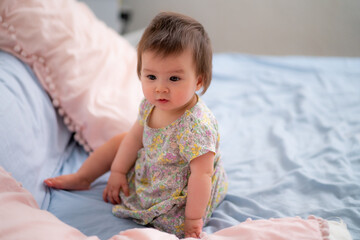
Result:
M127 174L130 195L120 192L122 202L112 209L115 216L184 237L190 161L211 151L215 153L212 191L203 218L204 223L209 220L225 197L227 179L220 161L217 121L198 99L179 119L156 129L147 125L153 105L145 99L141 102L138 120L144 126L144 147Z

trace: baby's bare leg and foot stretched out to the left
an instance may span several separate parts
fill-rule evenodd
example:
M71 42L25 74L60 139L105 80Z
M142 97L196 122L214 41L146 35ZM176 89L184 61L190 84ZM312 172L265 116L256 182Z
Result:
M76 173L48 178L44 180L44 183L49 187L58 189L89 189L90 184L95 179L110 170L115 154L125 135L126 133L119 134L97 148Z

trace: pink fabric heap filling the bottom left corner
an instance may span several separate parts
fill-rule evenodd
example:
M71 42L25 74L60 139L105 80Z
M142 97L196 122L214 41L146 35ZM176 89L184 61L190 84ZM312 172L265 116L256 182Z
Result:
M0 167L0 239L87 239L79 230L40 210L30 192Z

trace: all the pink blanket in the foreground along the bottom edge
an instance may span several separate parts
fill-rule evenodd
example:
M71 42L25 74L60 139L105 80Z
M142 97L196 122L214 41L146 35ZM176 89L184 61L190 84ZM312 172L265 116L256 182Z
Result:
M33 196L9 173L0 167L0 239L87 239L77 229L66 225L47 211L40 210ZM156 229L131 229L120 232L111 240L178 240L175 235ZM188 238L188 240L194 238ZM203 233L204 240L329 240L327 221L314 216L247 220L237 226L213 234Z

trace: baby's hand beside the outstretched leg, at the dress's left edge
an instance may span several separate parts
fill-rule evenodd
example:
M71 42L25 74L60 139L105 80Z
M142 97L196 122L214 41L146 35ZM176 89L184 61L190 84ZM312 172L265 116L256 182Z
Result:
M112 204L120 204L119 197L120 189L126 196L129 196L129 187L126 179L126 174L119 172L111 172L106 188L103 192L103 199L105 202Z

